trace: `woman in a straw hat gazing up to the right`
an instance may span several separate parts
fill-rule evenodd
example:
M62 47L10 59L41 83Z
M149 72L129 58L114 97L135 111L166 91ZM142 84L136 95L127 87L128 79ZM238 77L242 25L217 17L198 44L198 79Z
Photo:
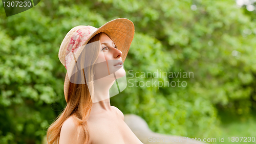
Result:
M99 29L77 26L61 43L59 59L68 70L65 110L47 131L48 143L142 143L110 105L110 88L125 76L123 62L134 36L133 22L118 18Z

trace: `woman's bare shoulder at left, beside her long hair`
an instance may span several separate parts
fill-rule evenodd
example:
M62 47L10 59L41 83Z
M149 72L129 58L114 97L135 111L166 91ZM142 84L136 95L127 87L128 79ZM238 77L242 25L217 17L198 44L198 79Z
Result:
M59 136L59 144L77 143L81 137L77 139L77 125L74 122L74 117L70 116L62 125ZM78 140L78 141L77 141Z

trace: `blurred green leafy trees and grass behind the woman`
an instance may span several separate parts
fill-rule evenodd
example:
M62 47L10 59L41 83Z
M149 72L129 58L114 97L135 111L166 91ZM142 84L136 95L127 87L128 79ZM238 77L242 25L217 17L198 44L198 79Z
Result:
M63 38L75 26L99 28L120 17L135 25L124 63L132 80L111 98L112 105L141 116L158 133L256 137L254 2L43 0L10 17L1 3L0 143L41 143L66 105L67 70L58 59ZM161 70L194 77L131 78L129 70L137 76ZM152 79L187 85L131 86Z

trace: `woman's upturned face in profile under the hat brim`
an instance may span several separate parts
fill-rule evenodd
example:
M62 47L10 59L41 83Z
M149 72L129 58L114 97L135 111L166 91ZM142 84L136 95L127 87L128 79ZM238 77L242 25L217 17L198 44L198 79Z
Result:
M100 52L95 62L95 79L100 79L105 76L113 80L125 76L125 70L122 63L122 52L111 40L111 38L102 33L100 37ZM114 76L115 75L115 76Z

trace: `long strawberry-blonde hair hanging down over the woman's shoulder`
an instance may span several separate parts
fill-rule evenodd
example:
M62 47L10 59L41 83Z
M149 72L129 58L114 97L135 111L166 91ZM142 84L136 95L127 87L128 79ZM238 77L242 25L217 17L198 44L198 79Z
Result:
M102 33L95 35L88 43L99 41ZM85 55L79 56L84 62L90 62L92 67L87 67L84 70L86 78L89 81L93 80L94 68L93 64L95 63L99 51L97 49L90 49L91 47L84 47ZM95 46L95 45L91 45ZM98 45L100 46L100 45ZM81 62L82 64L82 62ZM90 90L89 90L90 89ZM91 92L91 94L90 94ZM63 110L58 117L56 117L55 122L50 125L47 130L47 143L57 144L59 143L60 130L63 123L70 117L74 116L74 122L78 125L77 129L77 140L80 132L84 135L84 144L88 143L90 140L89 130L87 126L87 120L89 118L91 108L92 108L92 98L93 98L93 84L88 86L86 84L75 84L69 83L69 92L68 100L65 110Z

